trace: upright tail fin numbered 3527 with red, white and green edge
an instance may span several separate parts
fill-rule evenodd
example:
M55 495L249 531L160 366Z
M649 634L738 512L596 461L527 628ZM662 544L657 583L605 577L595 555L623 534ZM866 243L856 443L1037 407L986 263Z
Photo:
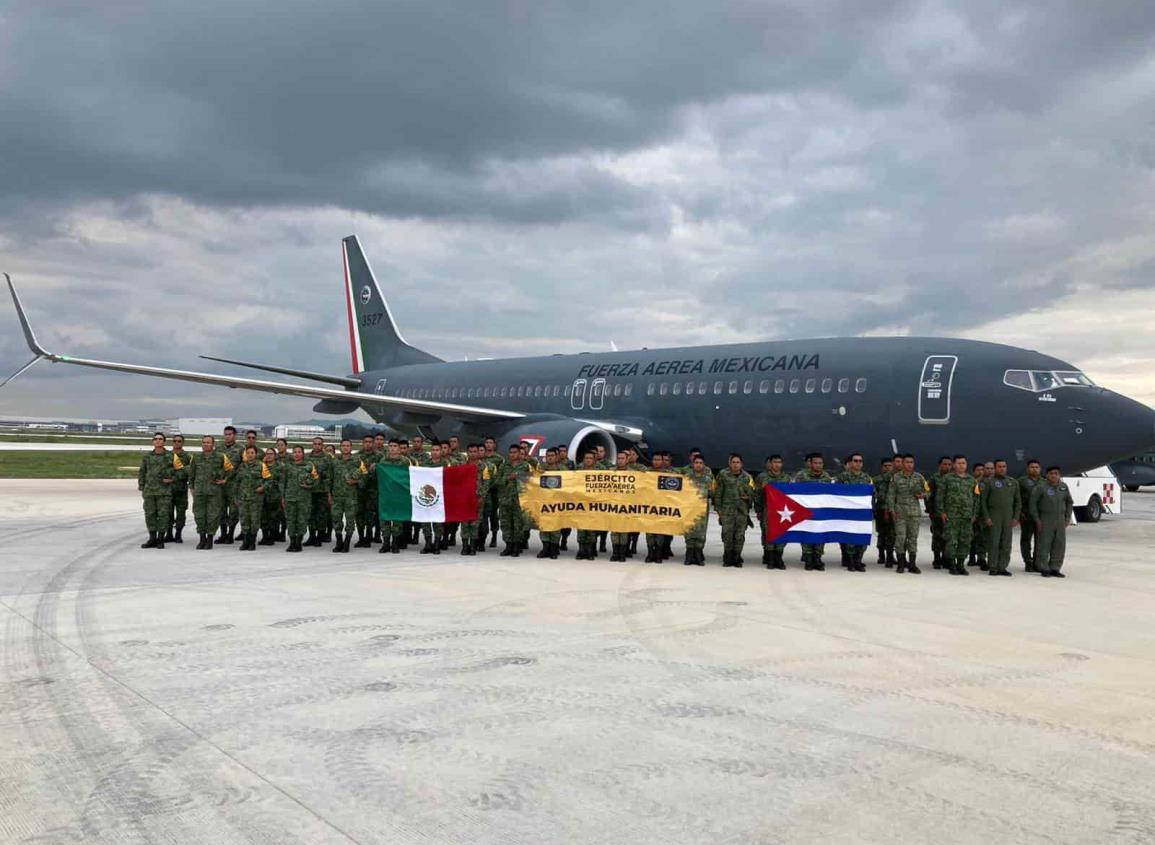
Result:
M353 373L441 359L405 343L356 234L341 240Z

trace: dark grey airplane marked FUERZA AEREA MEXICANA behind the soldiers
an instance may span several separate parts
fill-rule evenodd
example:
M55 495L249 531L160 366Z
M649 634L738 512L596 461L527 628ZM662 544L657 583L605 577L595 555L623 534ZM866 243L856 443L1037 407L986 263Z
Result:
M911 453L931 471L940 455L1005 458L1013 471L1037 457L1065 473L1101 466L1155 443L1155 411L1097 387L1040 352L944 337L837 337L444 361L405 342L356 235L342 240L352 358L346 375L211 360L295 376L268 381L49 352L12 279L21 327L38 360L318 399L318 413L364 410L398 433L479 439L531 451L566 443L579 456L604 446L642 454L730 453L788 466L811 451L837 466Z

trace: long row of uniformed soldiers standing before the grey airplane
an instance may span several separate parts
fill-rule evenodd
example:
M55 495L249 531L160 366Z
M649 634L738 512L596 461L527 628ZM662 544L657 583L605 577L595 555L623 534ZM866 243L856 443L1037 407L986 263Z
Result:
M640 462L636 450L624 448L613 462L605 448L586 451L575 463L566 446L549 447L539 461L529 443L515 443L507 455L497 441L469 443L464 449L457 438L429 444L420 436L412 441L366 435L353 451L350 440L338 448L314 438L312 448L290 449L278 439L275 447L261 449L256 432L245 433L244 442L228 426L223 442L213 435L201 439L201 451L185 451L185 439L173 435L172 449L157 433L152 450L141 461L137 486L143 496L148 540L142 548L164 548L166 543L184 543L182 531L192 496L196 548L232 544L240 529L240 549L255 551L288 541L286 552L333 543L333 552L349 552L380 544L381 553L400 553L424 540L422 554L440 554L457 545L461 533L463 555L494 548L498 533L501 556L519 556L528 547L530 525L519 502L519 491L534 476L566 470L623 470L633 472L676 472L686 477L713 507L722 530L723 566L740 567L746 530L758 518L762 538L762 564L785 569L785 544L768 543L765 486L808 481L820 484L871 485L878 543L878 563L897 573L919 574L918 533L925 513L931 518L933 567L952 575L967 575L975 566L992 576L1009 576L1012 530L1020 526L1020 551L1027 571L1044 577L1064 577L1065 530L1071 522L1073 501L1061 481L1059 468L1041 473L1030 461L1021 478L1007 474L1005 461L976 464L968 470L967 458L944 457L938 472L929 479L915 471L910 455L882 461L877 476L863 468L863 456L847 456L837 476L826 471L819 453L806 456L805 465L788 472L782 456L772 455L757 477L744 469L740 455L729 456L726 466L713 472L699 449L690 461L675 468L670 453L651 454L650 464ZM477 471L478 519L469 523L388 522L378 515L377 466L452 466L475 464ZM686 566L705 566L706 519L684 534ZM219 532L219 536L216 536ZM352 543L353 533L356 544ZM557 559L568 549L573 531L541 531L542 549L537 556ZM258 536L260 534L260 539ZM639 532L579 530L578 560L595 560L598 552L610 552L610 560L624 562L638 553ZM486 540L489 541L486 545ZM609 541L609 549L606 547ZM673 537L646 534L646 562L661 563L673 555ZM867 546L841 544L842 566L865 571ZM803 545L806 570L825 570L825 546Z

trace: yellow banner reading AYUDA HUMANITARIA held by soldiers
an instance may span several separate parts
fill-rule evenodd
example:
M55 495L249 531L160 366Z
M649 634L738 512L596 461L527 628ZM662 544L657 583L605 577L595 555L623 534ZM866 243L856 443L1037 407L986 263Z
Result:
M706 500L693 481L673 472L543 472L526 483L521 507L541 531L684 534L706 518Z

